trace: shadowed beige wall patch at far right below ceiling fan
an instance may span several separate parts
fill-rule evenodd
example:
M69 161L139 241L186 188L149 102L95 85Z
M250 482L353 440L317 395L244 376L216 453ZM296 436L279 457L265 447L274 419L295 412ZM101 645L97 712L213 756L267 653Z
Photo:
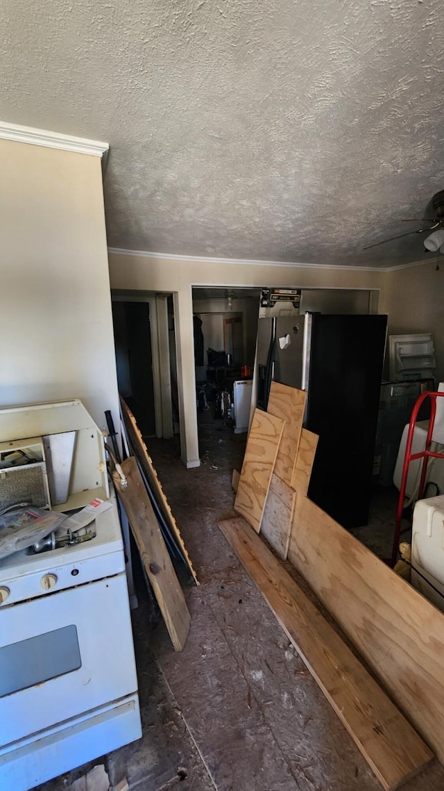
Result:
M444 267L436 271L435 257L416 267L385 275L384 305L389 314L389 335L432 332L437 369L444 380Z

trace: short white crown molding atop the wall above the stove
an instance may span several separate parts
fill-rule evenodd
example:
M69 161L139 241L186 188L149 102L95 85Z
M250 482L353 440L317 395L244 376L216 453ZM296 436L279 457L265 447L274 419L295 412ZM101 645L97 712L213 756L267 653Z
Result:
M70 134L50 132L34 127L20 127L17 123L0 121L0 139L13 140L14 142L30 143L32 146L61 149L62 151L75 151L88 153L92 157L103 157L109 150L109 143L88 138L75 138Z

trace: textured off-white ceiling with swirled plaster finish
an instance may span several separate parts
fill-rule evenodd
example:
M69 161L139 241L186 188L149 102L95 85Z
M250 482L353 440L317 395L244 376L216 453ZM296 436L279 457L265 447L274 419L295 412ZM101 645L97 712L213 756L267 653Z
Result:
M362 248L428 216L444 188L440 11L439 0L3 0L0 118L110 143L112 247L426 259L416 234Z

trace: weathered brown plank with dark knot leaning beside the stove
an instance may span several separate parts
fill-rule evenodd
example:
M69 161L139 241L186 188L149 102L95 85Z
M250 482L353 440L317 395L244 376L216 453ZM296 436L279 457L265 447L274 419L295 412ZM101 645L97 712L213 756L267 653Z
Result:
M191 621L185 596L134 456L122 462L122 471L126 475L127 486L122 486L117 472L113 473L112 479L130 521L137 549L164 616L171 642L176 651L182 651Z

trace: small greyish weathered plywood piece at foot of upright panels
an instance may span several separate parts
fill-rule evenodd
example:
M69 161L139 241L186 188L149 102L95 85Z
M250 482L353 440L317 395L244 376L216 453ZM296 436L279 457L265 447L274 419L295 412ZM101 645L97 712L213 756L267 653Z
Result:
M285 560L295 510L295 490L273 472L262 517L261 535Z

